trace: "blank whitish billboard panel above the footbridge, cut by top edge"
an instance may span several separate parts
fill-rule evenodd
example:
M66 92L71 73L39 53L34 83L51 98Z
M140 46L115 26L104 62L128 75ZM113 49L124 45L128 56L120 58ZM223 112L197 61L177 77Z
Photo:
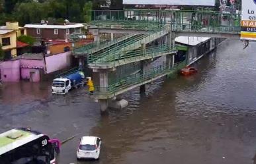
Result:
M214 6L215 0L123 0L124 5Z

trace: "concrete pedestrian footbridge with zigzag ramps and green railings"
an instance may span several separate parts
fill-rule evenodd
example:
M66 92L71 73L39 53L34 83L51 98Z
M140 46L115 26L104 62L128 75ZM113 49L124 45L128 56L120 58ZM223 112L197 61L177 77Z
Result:
M109 99L138 86L145 88L145 84L163 76L174 76L187 65L187 60L174 60L175 37L239 38L241 30L239 14L213 11L87 11L85 18L95 42L73 49L73 55L87 57L95 76L95 92L90 97L103 102L102 111ZM110 34L111 40L101 41L101 34ZM113 34L122 36L114 38ZM159 57L165 57L165 63L147 68ZM114 80L109 80L110 72L136 63L140 65L136 74L116 73Z

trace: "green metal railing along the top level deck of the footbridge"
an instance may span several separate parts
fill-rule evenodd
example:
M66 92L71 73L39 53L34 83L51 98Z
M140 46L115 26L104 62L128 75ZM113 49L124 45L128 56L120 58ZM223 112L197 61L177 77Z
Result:
M159 27L178 32L237 33L241 15L216 11L142 10L87 11L89 24L99 28L126 28L153 30Z

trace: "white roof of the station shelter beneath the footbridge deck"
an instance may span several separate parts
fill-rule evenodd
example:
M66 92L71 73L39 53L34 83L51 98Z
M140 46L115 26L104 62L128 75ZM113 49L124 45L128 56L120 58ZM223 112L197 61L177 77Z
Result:
M194 36L179 36L175 38L175 42L183 43L185 45L198 45L199 43L209 40L207 37L194 37Z

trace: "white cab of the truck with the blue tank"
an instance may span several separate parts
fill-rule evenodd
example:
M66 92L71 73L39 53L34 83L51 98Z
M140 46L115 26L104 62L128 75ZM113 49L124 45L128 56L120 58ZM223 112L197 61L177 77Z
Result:
M71 81L67 78L56 78L52 82L52 94L67 94L71 89Z

